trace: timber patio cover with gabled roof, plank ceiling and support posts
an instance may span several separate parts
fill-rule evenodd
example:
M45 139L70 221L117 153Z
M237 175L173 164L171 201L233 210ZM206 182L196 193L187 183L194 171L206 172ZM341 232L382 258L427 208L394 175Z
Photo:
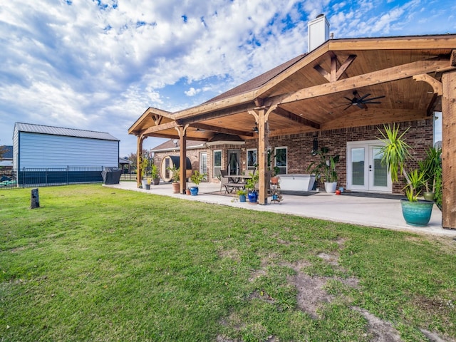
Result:
M138 156L147 137L179 140L181 193L187 187L187 139L209 141L224 133L257 141L259 202L266 204L271 138L423 122L441 111L443 202L439 222L456 229L455 85L456 35L330 39L202 105L176 113L148 108L129 133L138 137ZM316 198L312 196L312 201ZM331 200L339 198L346 197ZM388 212L388 218L391 212L400 215L396 202L399 207ZM355 212L351 214L356 217Z

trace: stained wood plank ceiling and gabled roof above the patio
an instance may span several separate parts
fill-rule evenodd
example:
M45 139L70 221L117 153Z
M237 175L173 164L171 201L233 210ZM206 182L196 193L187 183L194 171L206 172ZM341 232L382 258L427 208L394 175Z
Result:
M210 140L216 133L253 139L249 110L263 104L276 105L268 120L271 136L421 120L441 110L441 94L413 76L425 73L440 81L442 71L455 67L454 49L456 35L330 40L260 86L258 78L250 82L254 88L239 86L238 93L234 88L227 97L177 113L149 108L129 133L178 138L174 126L189 125L190 140ZM347 100L354 90L358 97L384 98L359 108Z

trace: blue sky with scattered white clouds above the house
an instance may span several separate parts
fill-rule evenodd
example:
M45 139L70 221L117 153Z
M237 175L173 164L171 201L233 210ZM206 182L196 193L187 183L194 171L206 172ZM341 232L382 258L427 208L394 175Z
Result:
M147 108L199 105L308 52L318 14L334 38L456 33L454 0L0 0L0 145L19 122L135 153Z

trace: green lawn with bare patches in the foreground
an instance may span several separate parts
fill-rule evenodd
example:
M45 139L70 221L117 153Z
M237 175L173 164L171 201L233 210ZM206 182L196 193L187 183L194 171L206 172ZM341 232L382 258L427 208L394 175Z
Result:
M39 192L28 209L30 189L0 191L0 341L456 341L451 238Z

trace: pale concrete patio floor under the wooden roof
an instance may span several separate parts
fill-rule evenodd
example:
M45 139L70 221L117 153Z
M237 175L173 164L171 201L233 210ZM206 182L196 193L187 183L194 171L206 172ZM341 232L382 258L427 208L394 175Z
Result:
M398 199L331 195L325 192L318 192L310 196L284 195L284 200L281 204L269 203L267 205L260 205L249 204L249 202L238 202L237 197L229 195L219 195L220 185L212 183L201 183L199 185L199 195L197 196L174 194L172 193L172 185L163 182L160 182L160 185L151 185L150 190L138 189L136 182L120 182L118 185L104 186L145 192L153 195L176 197L190 201L257 210L259 212L276 212L314 219L325 219L332 222L456 238L456 230L442 229L442 212L440 212L440 209L436 205L432 209L432 216L427 227L413 227L405 224ZM219 193L217 194L217 192Z

